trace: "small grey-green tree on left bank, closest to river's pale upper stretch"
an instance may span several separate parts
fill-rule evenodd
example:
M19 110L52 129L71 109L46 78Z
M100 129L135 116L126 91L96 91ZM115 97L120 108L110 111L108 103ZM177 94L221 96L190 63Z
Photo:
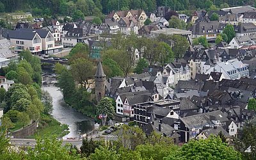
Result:
M52 113L52 97L49 92L42 91L42 103L44 104L44 114Z

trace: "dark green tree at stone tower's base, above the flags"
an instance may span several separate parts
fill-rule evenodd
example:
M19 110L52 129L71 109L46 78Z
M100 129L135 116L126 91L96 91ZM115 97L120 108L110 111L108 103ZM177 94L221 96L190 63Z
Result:
M108 97L103 97L96 109L96 115L105 114L108 120L113 120L115 115L115 107L113 106L112 100Z

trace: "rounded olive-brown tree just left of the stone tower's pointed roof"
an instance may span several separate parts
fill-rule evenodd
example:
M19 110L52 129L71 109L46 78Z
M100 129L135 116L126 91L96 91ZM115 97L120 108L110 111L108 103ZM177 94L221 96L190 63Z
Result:
M92 79L95 74L92 61L84 58L72 61L71 72L74 79L81 85L81 87L86 88L86 90L90 88L90 84L93 82L89 82L89 80Z

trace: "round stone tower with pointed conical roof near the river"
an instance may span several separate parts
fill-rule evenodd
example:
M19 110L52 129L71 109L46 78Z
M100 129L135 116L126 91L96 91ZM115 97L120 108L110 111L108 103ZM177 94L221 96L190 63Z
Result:
M94 77L95 77L95 98L98 103L102 97L105 97L105 81L106 81L106 75L104 74L104 70L102 68L100 61L98 63L97 71Z

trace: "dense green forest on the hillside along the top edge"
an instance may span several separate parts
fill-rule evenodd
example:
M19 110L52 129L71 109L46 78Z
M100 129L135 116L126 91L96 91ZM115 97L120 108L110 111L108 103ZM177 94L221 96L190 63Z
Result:
M195 10L215 5L239 6L254 4L255 0L1 0L0 12L32 11L34 15L72 15L81 10L86 15L99 15L112 10L143 9L147 12L157 6L170 6L172 10Z

